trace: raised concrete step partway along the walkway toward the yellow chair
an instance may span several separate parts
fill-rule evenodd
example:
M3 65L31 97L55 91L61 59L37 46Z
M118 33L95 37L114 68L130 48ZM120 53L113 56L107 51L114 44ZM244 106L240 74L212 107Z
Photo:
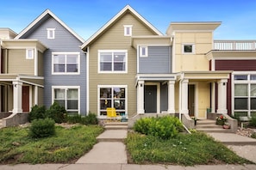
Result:
M127 130L107 130L97 137L97 142L124 142Z

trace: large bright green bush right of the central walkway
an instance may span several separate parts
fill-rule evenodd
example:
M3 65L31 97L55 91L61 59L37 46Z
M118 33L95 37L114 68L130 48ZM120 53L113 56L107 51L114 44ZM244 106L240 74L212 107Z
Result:
M177 137L178 132L182 129L183 125L179 119L171 116L140 118L134 124L134 131L162 139Z

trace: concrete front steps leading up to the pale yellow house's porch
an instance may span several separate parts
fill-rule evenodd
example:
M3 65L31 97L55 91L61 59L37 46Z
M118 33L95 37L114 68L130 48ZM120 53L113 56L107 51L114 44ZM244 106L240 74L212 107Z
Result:
M223 129L222 125L215 124L215 120L197 120L197 131L204 131L209 133L232 133L230 129Z

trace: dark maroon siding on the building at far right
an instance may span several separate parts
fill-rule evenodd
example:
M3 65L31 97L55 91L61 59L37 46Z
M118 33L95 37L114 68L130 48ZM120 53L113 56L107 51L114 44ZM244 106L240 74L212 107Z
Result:
M256 70L255 65L256 60L215 60L215 70L253 71ZM231 83L228 79L228 113L231 113Z

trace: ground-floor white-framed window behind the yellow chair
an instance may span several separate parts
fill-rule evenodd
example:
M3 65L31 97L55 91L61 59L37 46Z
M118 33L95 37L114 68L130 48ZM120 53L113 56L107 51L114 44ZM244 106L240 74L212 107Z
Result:
M107 116L108 107L115 107L116 113L126 113L126 86L100 86L98 91L100 116Z

